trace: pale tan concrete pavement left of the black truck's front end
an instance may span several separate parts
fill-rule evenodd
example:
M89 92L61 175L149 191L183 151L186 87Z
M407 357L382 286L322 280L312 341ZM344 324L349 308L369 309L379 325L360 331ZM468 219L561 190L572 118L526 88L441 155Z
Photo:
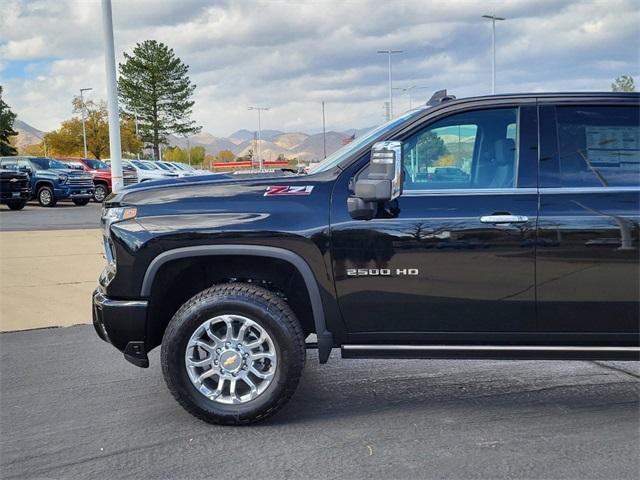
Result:
M91 322L101 232L0 232L0 331Z

